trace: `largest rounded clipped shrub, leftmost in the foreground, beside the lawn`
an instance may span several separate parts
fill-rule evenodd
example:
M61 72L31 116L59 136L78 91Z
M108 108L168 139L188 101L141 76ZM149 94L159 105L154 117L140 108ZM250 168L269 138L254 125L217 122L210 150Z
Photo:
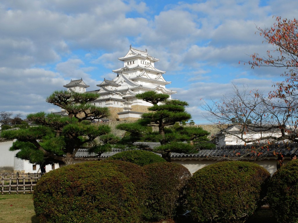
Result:
M120 172L120 166L95 161L46 173L33 194L36 215L53 223L140 222L138 189L127 176L130 167L125 163L127 170Z

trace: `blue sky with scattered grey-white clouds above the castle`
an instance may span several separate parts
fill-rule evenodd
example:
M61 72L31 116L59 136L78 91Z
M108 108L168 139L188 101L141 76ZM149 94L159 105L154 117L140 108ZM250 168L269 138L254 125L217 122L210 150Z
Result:
M267 93L281 80L282 70L242 61L272 48L256 27L297 15L297 0L1 0L0 111L58 112L47 96L71 79L98 89L132 45L160 59L172 98L208 124L203 101L220 101L234 84Z

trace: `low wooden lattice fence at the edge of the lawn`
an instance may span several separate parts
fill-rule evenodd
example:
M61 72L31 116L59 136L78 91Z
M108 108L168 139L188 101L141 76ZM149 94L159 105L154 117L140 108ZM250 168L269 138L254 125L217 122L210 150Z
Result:
M0 174L1 194L33 192L41 176L41 173L2 173Z

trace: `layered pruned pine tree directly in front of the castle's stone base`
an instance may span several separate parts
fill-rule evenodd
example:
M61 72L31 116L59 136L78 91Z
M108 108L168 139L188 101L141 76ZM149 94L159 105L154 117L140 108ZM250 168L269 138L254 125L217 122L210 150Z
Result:
M142 118L135 123L123 123L117 126L118 129L130 133L122 138L122 143L160 142L161 146L153 151L161 153L162 157L169 162L171 152L196 153L200 148L215 146L208 142L209 132L202 128L182 127L175 124L191 118L191 115L185 111L185 107L188 106L187 102L167 100L169 95L156 92L144 92L136 97L152 103L153 106L148 108L150 112L142 114ZM150 127L158 127L159 131L152 131ZM143 149L150 150L149 148Z

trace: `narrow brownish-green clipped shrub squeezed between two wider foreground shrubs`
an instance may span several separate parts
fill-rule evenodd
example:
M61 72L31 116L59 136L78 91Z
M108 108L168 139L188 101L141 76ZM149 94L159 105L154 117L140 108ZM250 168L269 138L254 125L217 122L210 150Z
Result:
M143 168L148 177L145 218L157 221L175 217L184 185L191 177L189 170L168 162L149 164Z

